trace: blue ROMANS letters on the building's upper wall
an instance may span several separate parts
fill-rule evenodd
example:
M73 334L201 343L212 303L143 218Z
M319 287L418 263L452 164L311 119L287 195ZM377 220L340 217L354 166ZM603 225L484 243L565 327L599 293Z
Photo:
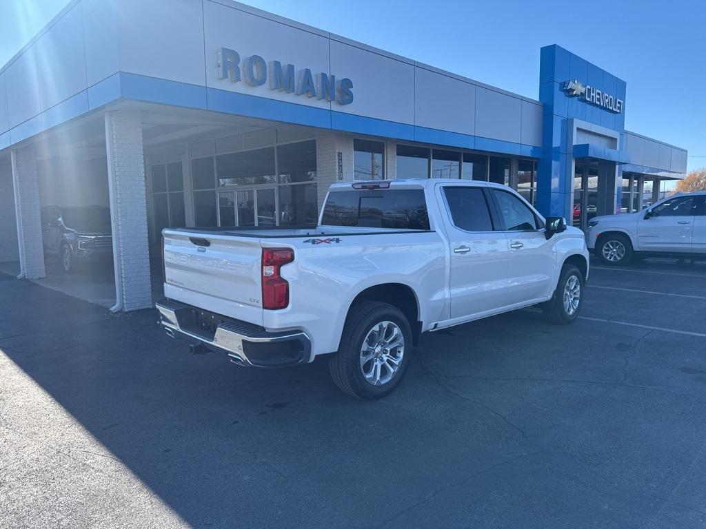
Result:
M221 48L217 51L218 78L229 78L232 83L245 80L251 86L262 86L269 78L270 90L294 92L294 95L306 95L338 104L353 102L353 82L349 78L336 80L335 75L317 73L316 82L309 68L299 70L295 78L294 65L282 65L280 61L265 63L259 55L251 55L241 63L237 51Z

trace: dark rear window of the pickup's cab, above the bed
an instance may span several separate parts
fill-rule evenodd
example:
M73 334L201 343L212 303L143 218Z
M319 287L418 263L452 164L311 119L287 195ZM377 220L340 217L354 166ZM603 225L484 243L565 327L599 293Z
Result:
M350 190L329 193L323 226L428 230L424 190Z

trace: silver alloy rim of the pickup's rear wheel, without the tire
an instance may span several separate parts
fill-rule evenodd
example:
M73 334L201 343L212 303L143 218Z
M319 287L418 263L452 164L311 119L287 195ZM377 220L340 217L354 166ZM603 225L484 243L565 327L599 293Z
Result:
M360 369L373 386L387 384L400 369L405 355L405 336L395 322L373 325L360 349Z

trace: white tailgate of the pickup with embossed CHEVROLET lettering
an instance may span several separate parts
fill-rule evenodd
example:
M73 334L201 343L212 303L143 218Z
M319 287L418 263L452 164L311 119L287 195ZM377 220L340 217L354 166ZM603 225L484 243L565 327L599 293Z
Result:
M167 229L164 296L263 324L260 239Z

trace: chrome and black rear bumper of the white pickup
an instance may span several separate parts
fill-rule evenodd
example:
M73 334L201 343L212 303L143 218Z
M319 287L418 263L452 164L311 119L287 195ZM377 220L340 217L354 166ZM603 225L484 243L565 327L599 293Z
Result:
M155 304L160 312L160 324L203 343L215 351L225 351L239 365L250 367L280 367L309 362L311 341L301 331L268 332L262 327L216 315L198 307L171 300ZM206 317L213 329L198 325Z

